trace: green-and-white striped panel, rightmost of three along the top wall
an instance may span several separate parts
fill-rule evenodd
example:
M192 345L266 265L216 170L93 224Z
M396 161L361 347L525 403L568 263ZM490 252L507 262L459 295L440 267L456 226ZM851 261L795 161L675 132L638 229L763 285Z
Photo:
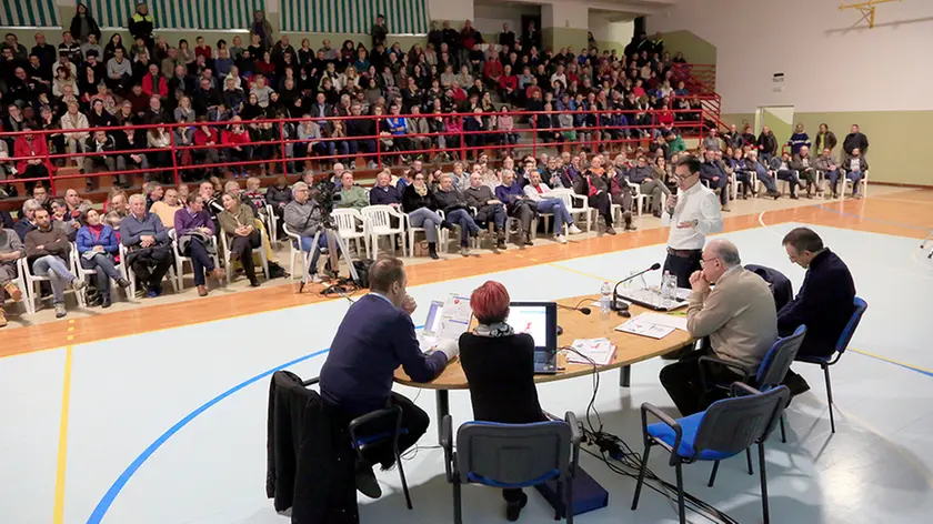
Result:
M377 14L393 34L428 32L428 0L280 0L282 30L321 33L370 32Z

